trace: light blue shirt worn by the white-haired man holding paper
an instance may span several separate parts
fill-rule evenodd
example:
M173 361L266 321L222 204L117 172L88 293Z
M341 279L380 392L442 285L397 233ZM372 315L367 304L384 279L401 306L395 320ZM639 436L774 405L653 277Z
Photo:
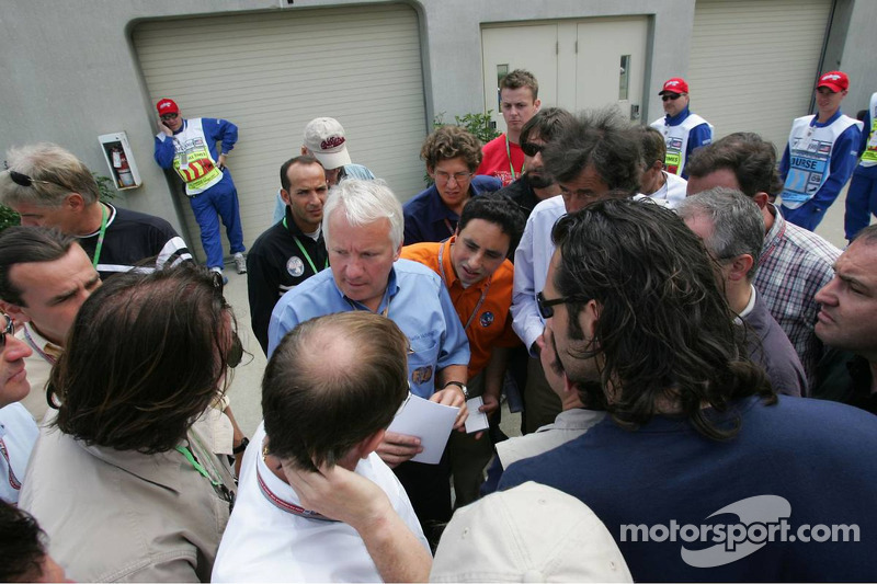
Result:
M387 289L376 310L392 320L411 343L408 378L411 392L429 398L435 391L435 374L449 365L469 364L469 341L438 275L409 260L392 264ZM284 335L316 317L368 310L341 291L331 270L323 270L284 294L267 329L267 356L274 353Z

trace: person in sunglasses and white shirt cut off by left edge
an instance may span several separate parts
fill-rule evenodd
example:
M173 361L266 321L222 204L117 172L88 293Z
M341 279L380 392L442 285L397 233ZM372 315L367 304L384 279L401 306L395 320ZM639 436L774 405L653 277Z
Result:
M15 339L11 318L0 313L0 500L14 505L38 431L34 419L19 403L31 392L24 370L31 347Z

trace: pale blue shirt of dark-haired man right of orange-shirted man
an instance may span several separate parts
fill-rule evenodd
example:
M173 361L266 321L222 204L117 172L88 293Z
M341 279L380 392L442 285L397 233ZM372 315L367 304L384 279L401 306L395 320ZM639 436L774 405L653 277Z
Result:
M555 253L551 229L566 214L567 207L560 195L536 205L529 214L521 243L514 252L512 327L527 350L545 330L545 321L542 320L536 306L536 295L545 288L548 266Z

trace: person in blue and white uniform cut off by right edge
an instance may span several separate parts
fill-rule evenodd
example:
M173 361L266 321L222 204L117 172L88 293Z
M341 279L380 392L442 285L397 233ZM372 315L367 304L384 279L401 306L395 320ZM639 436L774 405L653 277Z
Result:
M877 216L877 93L870 96L865 128L858 145L861 157L846 192L846 214L843 217L846 239L868 227L870 216Z

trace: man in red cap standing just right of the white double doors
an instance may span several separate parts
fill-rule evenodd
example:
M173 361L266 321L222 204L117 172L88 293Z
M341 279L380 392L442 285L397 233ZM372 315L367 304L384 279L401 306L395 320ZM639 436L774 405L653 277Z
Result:
M713 124L688 110L688 83L681 77L668 79L658 95L667 115L652 122L651 127L664 135L664 169L687 180L685 161L692 152L713 141Z

